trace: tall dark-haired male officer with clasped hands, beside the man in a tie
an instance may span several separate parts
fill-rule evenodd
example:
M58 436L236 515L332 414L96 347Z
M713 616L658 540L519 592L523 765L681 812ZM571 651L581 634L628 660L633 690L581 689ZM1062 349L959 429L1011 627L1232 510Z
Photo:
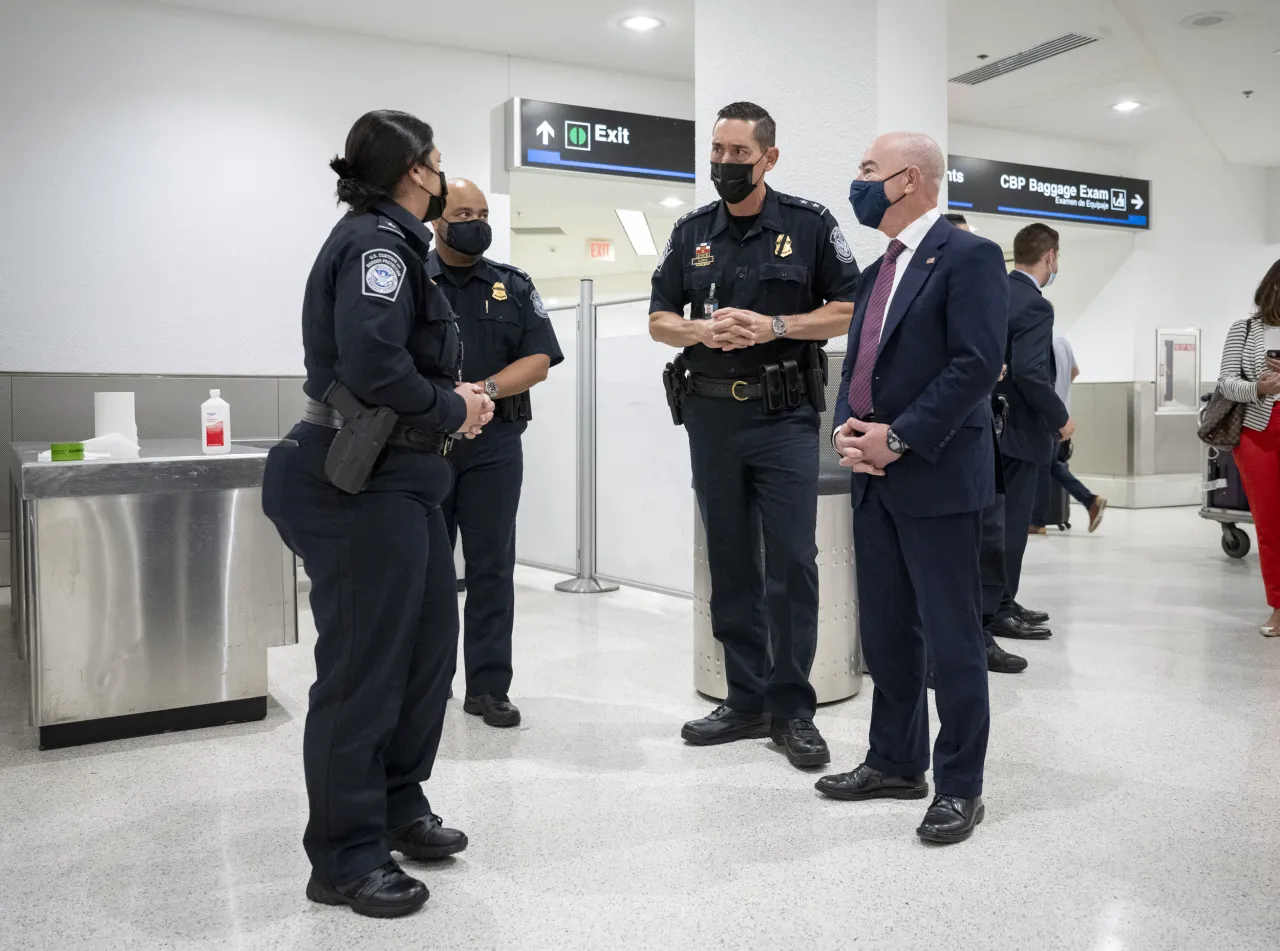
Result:
M724 703L681 736L695 745L771 736L794 765L819 767L831 760L809 683L822 344L849 332L858 265L827 209L765 184L774 140L772 116L754 102L719 111L710 157L721 201L676 223L653 275L649 333L684 349L664 385L689 433L728 680Z

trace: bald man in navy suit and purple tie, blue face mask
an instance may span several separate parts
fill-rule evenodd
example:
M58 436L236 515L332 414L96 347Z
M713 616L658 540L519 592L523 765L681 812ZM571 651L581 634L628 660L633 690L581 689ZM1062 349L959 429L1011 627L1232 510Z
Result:
M983 818L991 714L978 550L982 511L996 499L991 390L1009 279L996 244L938 215L943 174L937 142L896 132L872 142L850 187L858 220L892 238L859 284L832 434L854 471L859 613L876 691L864 763L818 790L928 796L928 644L937 795L916 835L960 842Z

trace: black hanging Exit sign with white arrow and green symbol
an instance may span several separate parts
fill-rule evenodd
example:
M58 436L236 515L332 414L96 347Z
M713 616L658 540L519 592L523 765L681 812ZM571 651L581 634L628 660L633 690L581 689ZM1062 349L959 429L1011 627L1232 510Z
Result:
M694 123L536 99L506 105L507 168L694 180Z

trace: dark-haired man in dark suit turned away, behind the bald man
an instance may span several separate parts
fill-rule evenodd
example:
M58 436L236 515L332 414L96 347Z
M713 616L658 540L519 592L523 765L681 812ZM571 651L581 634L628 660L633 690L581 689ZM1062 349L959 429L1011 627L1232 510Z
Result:
M1000 440L1005 470L1005 596L988 631L1000 637L1043 640L1048 614L1018 603L1027 532L1036 509L1039 471L1053 461L1057 444L1075 429L1053 389L1053 305L1041 288L1057 276L1057 232L1029 224L1014 238L1009 274L1009 372L996 392L1009 401L1009 422Z

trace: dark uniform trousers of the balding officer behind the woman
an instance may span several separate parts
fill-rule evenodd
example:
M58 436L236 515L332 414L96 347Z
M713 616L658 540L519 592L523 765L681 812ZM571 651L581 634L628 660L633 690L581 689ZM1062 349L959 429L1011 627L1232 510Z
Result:
M442 511L449 547L462 532L467 598L462 613L467 696L506 698L516 613L516 511L525 479L524 425L492 422L449 451L454 485Z

